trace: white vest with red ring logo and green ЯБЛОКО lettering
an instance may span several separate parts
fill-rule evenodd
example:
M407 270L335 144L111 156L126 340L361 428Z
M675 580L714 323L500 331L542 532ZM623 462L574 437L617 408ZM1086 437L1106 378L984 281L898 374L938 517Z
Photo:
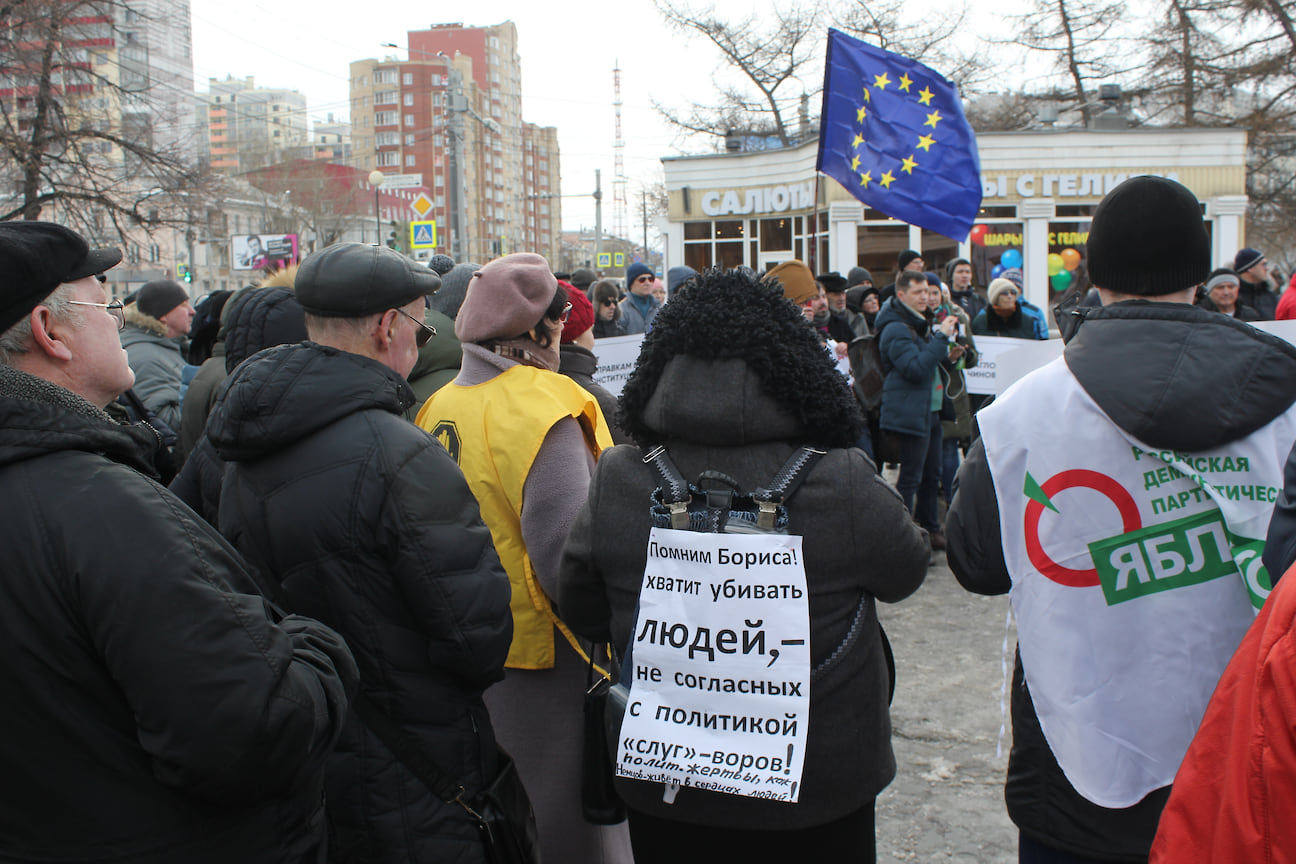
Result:
M1260 556L1296 408L1222 447L1159 451L1059 358L978 422L1045 738L1081 795L1133 806L1174 780L1269 593Z

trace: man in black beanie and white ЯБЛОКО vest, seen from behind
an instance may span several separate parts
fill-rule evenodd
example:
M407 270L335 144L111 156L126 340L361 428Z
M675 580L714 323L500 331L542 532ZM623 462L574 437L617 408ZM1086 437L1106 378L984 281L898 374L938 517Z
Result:
M1108 193L1089 234L1103 306L977 415L958 474L950 569L1010 593L1017 619L1004 798L1021 860L1147 860L1267 593L1296 348L1194 307L1209 269L1191 192L1140 176Z

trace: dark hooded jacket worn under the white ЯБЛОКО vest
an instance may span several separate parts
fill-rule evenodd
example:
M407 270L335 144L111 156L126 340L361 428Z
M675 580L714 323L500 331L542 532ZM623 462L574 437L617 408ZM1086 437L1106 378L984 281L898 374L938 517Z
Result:
M1064 356L1112 422L1153 447L1218 447L1256 431L1296 400L1296 348L1185 303L1133 301L1089 308ZM945 525L950 569L969 591L1007 593L1012 579L1003 558L999 504L980 439L955 490ZM1169 791L1152 791L1125 810L1082 798L1048 749L1017 658L1004 798L1024 833L1074 855L1146 861Z

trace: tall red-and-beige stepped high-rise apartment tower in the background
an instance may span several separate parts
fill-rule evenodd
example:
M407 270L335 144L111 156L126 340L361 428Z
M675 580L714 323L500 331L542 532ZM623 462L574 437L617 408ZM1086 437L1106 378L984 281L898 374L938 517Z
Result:
M410 31L408 60L351 63L354 163L422 175L438 251L485 262L560 249L557 132L522 120L521 80L512 22L434 25ZM456 210L461 245L452 237Z

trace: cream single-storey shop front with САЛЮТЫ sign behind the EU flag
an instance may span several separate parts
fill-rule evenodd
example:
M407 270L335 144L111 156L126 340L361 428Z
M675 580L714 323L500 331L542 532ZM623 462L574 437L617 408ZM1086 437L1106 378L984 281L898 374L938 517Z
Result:
M1026 297L1048 307L1089 285L1086 244L1094 209L1129 176L1178 180L1203 205L1212 260L1243 246L1245 132L1236 130L1043 130L977 136L981 215L950 238L866 207L835 180L816 177L818 141L758 153L662 159L670 196L666 266L766 269L798 258L815 272L861 266L877 285L896 276L905 249L928 269L967 258L975 284L1023 269Z

